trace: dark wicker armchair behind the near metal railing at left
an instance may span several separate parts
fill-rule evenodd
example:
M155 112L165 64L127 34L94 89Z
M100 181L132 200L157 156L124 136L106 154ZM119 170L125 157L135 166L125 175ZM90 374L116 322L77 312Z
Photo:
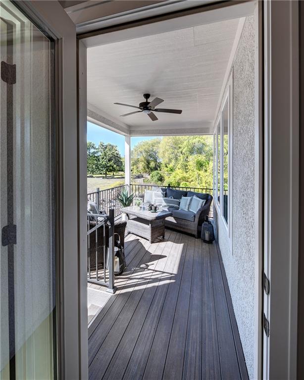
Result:
M91 221L90 222L90 229L95 227L96 222ZM126 230L127 222L126 221L116 221L114 223L114 233L115 233L115 241L120 238L120 242L122 247L124 247L125 242L125 230ZM105 227L105 252L107 252L107 248L109 246L109 227L107 224L101 226L97 229L97 263L98 263L98 269L103 269L104 262L103 262L103 229ZM117 234L117 235L116 235ZM89 258L88 260L88 272L89 272L89 265L91 271L96 271L96 234L93 232L89 235L90 238L90 248L89 248ZM90 262L90 263L89 263Z

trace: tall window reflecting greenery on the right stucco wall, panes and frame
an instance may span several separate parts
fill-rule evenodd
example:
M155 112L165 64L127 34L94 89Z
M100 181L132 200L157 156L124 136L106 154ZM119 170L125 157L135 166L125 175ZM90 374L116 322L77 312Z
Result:
M228 81L226 93L219 109L213 135L214 172L213 194L216 209L227 227L228 235L232 235L232 74Z

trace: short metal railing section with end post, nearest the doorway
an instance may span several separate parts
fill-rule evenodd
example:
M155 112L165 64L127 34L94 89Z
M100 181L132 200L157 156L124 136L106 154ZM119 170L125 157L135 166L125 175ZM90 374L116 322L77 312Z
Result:
M88 282L114 293L114 209L108 215L87 214L87 244Z

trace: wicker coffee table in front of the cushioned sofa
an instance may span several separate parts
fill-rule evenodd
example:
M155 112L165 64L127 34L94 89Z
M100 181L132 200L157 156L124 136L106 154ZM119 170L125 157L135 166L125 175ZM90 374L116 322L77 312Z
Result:
M165 218L172 215L171 211L139 210L136 206L123 207L129 220L127 221L128 233L148 239L151 243L159 241L165 236Z

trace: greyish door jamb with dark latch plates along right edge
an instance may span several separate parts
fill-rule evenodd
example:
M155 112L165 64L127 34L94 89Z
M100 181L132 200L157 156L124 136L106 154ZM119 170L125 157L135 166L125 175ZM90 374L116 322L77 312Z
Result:
M297 378L299 4L264 2L263 379Z

